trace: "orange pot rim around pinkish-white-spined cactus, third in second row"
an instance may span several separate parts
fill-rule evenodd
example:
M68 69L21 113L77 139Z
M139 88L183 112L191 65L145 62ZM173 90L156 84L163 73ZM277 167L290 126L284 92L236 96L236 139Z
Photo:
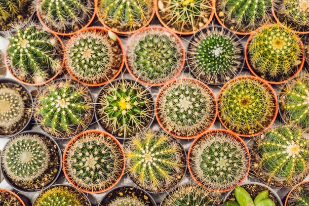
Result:
M183 56L183 57L182 57L183 59L182 59L182 62L181 62L181 66L178 68L177 72L175 73L175 75L174 75L171 79L176 78L176 77L181 73L181 71L182 71L182 69L183 69L183 67L184 67L184 65L185 65L186 52L185 52L185 47L184 47L184 45L183 45L181 39L180 39L175 33L173 33L172 31L170 31L170 30L168 30L168 29L165 29L164 27L160 27L160 26L150 26L150 27L143 28L142 30L140 30L140 31L137 32L137 33L134 33L134 34L129 38L128 42L130 42L131 40L134 40L134 38L135 38L137 35L141 34L142 32L145 32L145 31L151 30L151 29L155 29L155 30L159 30L159 31L163 31L163 32L169 33L172 37L174 37L174 38L178 41L179 45L181 46L181 48L182 48L182 56ZM127 44L126 50L128 50L128 46L129 46L129 45ZM161 85L164 85L166 82L169 82L169 81L170 81L170 80L167 80L167 81L165 81L165 82L149 83L149 82L144 82L144 81L140 80L139 77L136 77L136 76L135 76L135 74L133 73L132 69L131 69L130 66L129 66L128 57L127 57L127 52L126 52L126 56L125 56L125 66L126 66L128 72L130 73L130 75L131 75L135 80L137 80L138 82L141 82L141 83L143 83L143 84L146 84L146 85L148 85L148 86L161 86Z

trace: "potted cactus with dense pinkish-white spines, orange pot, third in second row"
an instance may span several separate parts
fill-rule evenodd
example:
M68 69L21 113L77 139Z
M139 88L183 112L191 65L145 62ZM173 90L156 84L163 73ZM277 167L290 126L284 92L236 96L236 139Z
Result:
M163 85L178 76L184 64L182 41L163 27L146 27L128 40L125 65L141 83Z

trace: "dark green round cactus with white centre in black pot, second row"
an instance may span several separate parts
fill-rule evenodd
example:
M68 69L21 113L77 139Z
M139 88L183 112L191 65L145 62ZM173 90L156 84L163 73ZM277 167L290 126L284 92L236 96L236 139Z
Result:
M242 68L242 46L236 35L222 27L201 30L190 42L190 72L200 81L221 84L234 78Z

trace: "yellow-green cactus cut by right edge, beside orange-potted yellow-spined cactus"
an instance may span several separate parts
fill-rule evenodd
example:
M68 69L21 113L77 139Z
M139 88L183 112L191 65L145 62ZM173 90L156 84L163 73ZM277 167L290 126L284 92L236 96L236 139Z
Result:
M305 129L309 128L308 78L308 75L303 74L287 82L279 96L279 110L283 119Z

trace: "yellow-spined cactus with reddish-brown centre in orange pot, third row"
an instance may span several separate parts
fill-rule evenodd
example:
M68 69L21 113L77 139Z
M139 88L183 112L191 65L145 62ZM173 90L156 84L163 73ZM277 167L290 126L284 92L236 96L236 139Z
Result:
M252 76L234 78L218 97L218 114L225 127L241 136L255 135L272 124L277 98L269 84Z

